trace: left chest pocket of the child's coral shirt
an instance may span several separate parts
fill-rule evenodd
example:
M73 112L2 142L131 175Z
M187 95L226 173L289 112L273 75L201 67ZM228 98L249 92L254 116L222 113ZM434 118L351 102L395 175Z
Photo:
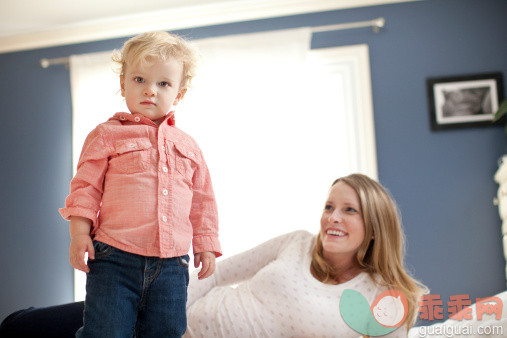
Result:
M114 143L116 155L109 159L112 173L134 174L146 171L151 162L151 142L131 139Z

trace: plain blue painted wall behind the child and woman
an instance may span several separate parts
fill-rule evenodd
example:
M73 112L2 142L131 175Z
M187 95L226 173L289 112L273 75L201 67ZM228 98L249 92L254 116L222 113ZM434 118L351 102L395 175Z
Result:
M312 46L369 45L380 181L399 202L408 265L445 304L450 295L475 299L505 289L492 204L505 136L499 127L432 132L425 81L507 74L505 13L505 0L425 0L179 33L203 38L386 18L380 34L318 33ZM0 319L73 297L67 223L57 211L72 173L69 76L38 61L119 48L123 40L0 54Z

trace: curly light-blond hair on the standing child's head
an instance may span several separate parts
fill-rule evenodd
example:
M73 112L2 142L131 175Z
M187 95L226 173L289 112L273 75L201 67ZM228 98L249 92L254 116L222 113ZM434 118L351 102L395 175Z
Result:
M199 60L197 50L180 36L167 32L148 32L125 42L122 49L113 54L118 72L124 75L128 64L144 65L153 59L167 61L174 58L182 63L183 74L180 91L190 86Z

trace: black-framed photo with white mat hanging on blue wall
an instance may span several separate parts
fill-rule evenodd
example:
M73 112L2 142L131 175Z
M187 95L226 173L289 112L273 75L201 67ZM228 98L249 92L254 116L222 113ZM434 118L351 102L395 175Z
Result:
M503 95L502 73L429 78L426 84L431 129L494 125Z

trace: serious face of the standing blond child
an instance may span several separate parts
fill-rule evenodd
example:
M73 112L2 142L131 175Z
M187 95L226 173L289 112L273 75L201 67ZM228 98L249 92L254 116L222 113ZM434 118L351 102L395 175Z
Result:
M163 119L185 95L180 90L183 65L176 59L155 59L142 66L127 63L120 76L121 93L131 113L152 121Z

